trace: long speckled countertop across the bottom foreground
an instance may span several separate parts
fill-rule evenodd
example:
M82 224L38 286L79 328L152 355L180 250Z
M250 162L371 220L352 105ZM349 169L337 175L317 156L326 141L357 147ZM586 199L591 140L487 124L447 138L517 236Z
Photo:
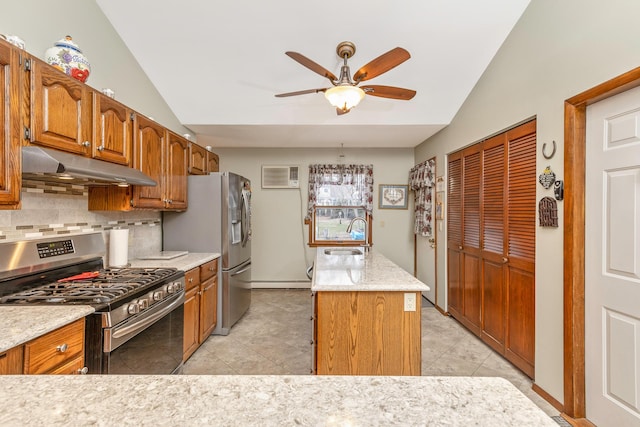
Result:
M4 426L557 427L491 377L0 376L0 408Z

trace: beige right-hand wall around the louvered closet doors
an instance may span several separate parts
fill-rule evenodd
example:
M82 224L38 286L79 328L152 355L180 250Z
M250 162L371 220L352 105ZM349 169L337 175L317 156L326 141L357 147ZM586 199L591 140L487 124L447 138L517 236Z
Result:
M416 148L416 162L446 154L537 117L538 161L563 179L564 100L640 65L637 0L533 0L453 122ZM556 141L556 155L546 160ZM588 171L587 171L588 173ZM538 186L537 200L552 194ZM563 401L563 203L560 227L536 233L535 381ZM424 245L418 245L422 247ZM438 245L438 298L445 304L446 240Z

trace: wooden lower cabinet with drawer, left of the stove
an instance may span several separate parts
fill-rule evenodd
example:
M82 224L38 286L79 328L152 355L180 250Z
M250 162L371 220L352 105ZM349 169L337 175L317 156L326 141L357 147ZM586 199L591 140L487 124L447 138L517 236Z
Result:
M84 373L84 318L0 353L0 374Z

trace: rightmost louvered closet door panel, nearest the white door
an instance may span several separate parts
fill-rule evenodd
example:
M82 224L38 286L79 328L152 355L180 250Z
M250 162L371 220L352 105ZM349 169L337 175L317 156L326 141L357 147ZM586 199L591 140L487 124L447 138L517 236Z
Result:
M507 336L505 356L533 377L535 347L536 123L507 133Z

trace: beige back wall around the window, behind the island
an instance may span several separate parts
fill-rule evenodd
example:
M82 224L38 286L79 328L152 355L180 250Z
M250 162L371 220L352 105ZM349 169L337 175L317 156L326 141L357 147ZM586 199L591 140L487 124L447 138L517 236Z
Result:
M306 267L315 256L308 249L307 209L309 164L339 163L333 149L215 148L220 170L244 175L252 185L252 278L255 281L307 281ZM378 209L379 184L406 184L414 165L413 149L344 149L343 163L373 164L373 245L376 250L413 273L413 219L409 209ZM262 189L262 165L297 165L300 189Z

